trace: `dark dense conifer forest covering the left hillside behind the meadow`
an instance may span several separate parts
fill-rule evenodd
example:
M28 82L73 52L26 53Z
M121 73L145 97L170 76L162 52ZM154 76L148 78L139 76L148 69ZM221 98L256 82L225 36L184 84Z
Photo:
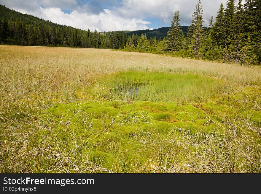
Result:
M37 17L21 14L0 5L0 43L28 46L68 46L122 49L124 32L100 33L58 25Z

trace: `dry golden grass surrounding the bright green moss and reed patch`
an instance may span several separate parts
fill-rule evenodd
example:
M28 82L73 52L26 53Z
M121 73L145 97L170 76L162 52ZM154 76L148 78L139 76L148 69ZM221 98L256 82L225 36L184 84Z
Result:
M86 155L83 149L89 145L89 139L81 136L78 129L59 129L62 118L57 121L41 111L54 102L99 100L90 94L96 78L119 71L211 76L222 80L225 88L222 91L229 94L244 92L245 86L253 87L251 96L230 101L227 96L231 95L225 94L219 99L227 105L224 115L218 115L224 125L224 137L217 133L192 134L183 128L173 129L175 136L172 132L147 136L145 131L144 135L135 135L142 146L137 151L149 150L156 160L151 164L133 162L128 167L128 155L122 150L114 155L115 172L261 172L261 146L257 140L260 125L253 125L252 118L245 119L237 110L226 110L229 106L241 109L238 107L241 105L242 109L260 112L260 66L102 49L3 45L0 46L0 172L112 172ZM210 117L211 114L209 111ZM178 137L176 133L182 135ZM68 139L64 140L63 135L70 141L66 142ZM106 142L115 147L114 141ZM110 148L99 142L97 145Z

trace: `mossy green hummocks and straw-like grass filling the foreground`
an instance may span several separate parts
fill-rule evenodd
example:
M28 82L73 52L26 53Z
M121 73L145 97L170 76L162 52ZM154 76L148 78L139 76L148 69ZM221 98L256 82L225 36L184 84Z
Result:
M261 111L247 111L213 103L56 103L6 125L1 172L260 172L253 129Z

